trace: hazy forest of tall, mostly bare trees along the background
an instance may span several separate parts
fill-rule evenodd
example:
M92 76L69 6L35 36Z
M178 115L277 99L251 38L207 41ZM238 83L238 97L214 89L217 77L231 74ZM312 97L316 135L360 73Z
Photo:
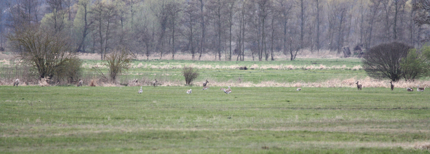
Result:
M427 3L427 4L426 4ZM2 0L0 45L18 27L70 37L75 51L104 56L118 45L146 57L188 53L218 60L274 60L301 51L428 40L427 0ZM427 9L426 9L427 7Z

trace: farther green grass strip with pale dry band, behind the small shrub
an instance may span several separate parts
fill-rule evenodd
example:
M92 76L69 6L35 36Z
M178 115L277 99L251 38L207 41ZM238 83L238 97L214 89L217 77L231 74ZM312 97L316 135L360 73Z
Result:
M90 71L94 60L84 60L84 68ZM199 69L197 81L242 82L325 82L329 79L362 79L367 76L359 67L360 59L298 59L295 61L192 61L192 60L133 60L132 69L122 76L121 82L132 79L182 81L182 67ZM247 70L238 67L246 66ZM354 67L355 66L355 67ZM151 82L152 82L151 81ZM200 85L200 84L199 84Z

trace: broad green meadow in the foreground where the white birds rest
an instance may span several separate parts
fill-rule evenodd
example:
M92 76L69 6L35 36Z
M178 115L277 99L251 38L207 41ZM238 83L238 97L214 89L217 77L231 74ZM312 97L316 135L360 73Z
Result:
M219 88L0 86L0 153L429 153L428 91Z

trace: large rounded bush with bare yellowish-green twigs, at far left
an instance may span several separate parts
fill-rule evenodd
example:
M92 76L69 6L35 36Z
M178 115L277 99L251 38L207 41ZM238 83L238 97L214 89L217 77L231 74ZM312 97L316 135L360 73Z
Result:
M36 69L39 79L70 75L69 72L80 69L81 62L73 51L72 41L64 33L28 24L15 28L8 39L20 51L18 57Z

